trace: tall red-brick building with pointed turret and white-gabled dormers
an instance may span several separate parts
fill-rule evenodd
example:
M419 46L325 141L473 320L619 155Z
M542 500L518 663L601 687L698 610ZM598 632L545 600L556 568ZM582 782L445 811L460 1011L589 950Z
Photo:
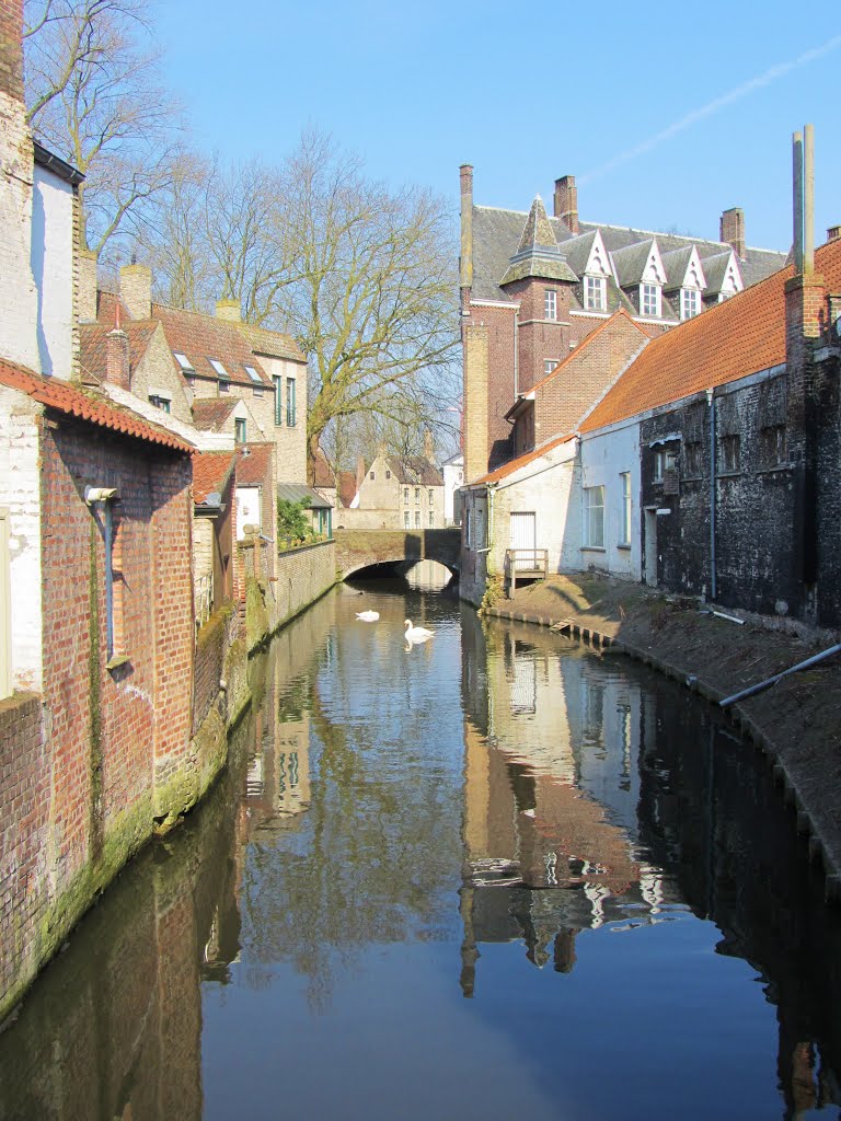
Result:
M509 410L617 312L657 335L785 262L784 253L746 245L738 209L722 214L720 237L713 242L583 222L573 176L556 180L552 217L539 196L528 214L479 206L473 169L463 166L465 479L474 481L516 454ZM601 385L591 379L584 407L617 372L606 371Z

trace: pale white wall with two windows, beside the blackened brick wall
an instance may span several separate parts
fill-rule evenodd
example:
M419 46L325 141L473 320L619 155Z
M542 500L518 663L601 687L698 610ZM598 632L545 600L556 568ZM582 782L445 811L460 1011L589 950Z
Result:
M630 472L631 529L630 548L620 544L622 526L622 472ZM604 488L604 548L581 548L576 567L598 568L612 576L641 580L639 529L639 425L627 421L581 439L581 479L577 493L572 495L582 510L583 488Z

